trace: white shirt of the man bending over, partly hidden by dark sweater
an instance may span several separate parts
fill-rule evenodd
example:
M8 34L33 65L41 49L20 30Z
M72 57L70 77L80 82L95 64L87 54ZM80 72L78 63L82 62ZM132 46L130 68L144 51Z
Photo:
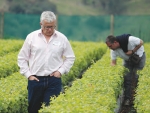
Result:
M140 44L140 39L135 36L129 36L128 41L128 50L133 50L137 45ZM144 46L142 45L135 53L139 55L139 57L142 57L144 52ZM129 56L124 53L124 51L121 48L118 48L116 50L111 50L111 59L116 60L117 57L120 57L124 60L128 60Z

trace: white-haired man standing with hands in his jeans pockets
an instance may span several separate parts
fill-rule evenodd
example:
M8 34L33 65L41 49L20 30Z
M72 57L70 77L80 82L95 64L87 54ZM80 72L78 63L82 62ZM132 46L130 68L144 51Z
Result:
M55 30L56 16L44 11L41 29L27 35L18 54L20 73L28 78L28 112L37 113L41 104L61 92L61 76L73 66L75 55L65 35Z

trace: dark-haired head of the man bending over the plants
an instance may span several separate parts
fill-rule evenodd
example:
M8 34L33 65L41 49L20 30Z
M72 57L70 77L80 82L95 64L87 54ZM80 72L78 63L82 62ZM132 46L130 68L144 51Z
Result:
M116 37L113 35L109 35L106 38L106 44L112 50L115 50L120 47L119 42L117 41Z

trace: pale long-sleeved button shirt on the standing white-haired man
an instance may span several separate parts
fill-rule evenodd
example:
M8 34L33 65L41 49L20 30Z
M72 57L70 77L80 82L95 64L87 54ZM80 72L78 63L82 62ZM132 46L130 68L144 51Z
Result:
M48 76L54 71L66 74L74 60L75 55L67 37L56 30L49 42L41 29L31 32L18 54L20 73L27 78L31 75Z

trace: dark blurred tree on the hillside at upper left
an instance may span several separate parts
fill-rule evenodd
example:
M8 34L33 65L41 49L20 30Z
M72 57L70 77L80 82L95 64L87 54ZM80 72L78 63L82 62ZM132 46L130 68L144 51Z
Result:
M45 10L57 13L56 5L49 0L7 0L11 13L41 14Z

